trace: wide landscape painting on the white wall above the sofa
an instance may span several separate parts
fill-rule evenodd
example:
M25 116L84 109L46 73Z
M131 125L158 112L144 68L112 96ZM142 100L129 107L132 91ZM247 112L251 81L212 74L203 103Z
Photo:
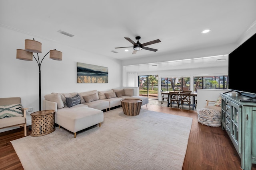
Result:
M108 83L108 67L77 63L78 83Z

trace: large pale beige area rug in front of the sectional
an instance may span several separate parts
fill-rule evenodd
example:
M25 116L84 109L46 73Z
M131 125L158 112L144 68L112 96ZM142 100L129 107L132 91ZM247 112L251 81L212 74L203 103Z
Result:
M58 129L11 141L25 170L181 170L192 118L122 107L104 113L104 122L74 133Z

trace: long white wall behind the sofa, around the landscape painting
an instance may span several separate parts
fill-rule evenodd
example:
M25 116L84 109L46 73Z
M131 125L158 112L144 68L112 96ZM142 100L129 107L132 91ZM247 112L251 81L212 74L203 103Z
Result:
M86 92L89 90L110 90L122 87L121 61L74 49L40 37L21 33L0 26L0 98L21 97L23 107L33 107L27 112L27 125L31 125L30 114L39 110L38 64L16 59L16 49L24 49L25 39L42 43L40 59L50 49L62 51L62 61L45 57L41 66L41 92ZM34 53L36 55L36 53ZM108 67L108 83L77 83L76 63L87 63ZM6 131L9 129L1 129Z

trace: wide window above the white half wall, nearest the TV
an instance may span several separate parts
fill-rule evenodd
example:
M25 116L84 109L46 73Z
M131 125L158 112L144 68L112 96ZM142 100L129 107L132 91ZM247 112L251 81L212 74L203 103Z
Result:
M202 76L194 77L194 92L196 89L228 89L228 76Z

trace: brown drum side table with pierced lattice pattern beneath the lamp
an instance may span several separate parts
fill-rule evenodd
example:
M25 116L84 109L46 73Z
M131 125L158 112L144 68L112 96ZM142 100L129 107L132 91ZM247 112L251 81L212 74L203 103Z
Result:
M55 111L54 110L42 110L31 113L31 129L32 132L30 136L42 136L47 135L55 131L54 119Z

